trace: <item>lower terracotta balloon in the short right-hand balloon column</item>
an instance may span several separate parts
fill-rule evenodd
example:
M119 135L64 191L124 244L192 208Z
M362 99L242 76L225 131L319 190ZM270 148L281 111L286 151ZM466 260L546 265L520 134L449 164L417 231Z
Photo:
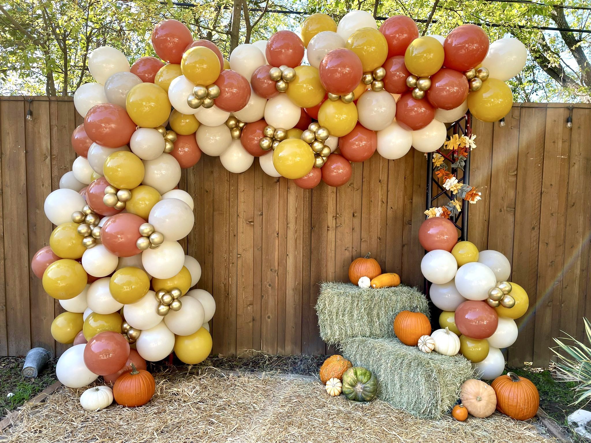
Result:
M484 301L474 300L467 300L457 307L455 320L460 333L476 340L490 337L499 323L493 308Z

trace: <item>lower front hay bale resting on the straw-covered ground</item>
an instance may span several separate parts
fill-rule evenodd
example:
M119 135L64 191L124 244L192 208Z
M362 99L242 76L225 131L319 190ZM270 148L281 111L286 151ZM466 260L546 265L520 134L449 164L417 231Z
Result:
M420 418L439 418L448 412L462 383L473 376L465 357L426 354L398 338L350 338L340 348L354 366L375 374L379 398Z

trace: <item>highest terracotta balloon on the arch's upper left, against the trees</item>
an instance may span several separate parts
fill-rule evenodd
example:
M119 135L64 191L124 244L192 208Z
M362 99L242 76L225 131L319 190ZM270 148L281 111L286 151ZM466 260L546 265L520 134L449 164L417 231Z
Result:
M163 20L152 31L154 51L168 63L181 63L185 48L192 42L191 31L178 20Z

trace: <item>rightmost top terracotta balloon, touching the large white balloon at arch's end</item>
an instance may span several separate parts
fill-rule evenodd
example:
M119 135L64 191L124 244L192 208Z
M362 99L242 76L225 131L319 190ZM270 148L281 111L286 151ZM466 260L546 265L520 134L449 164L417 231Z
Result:
M484 60L488 46L488 35L482 28L470 24L459 26L443 42L443 66L456 71L472 69Z

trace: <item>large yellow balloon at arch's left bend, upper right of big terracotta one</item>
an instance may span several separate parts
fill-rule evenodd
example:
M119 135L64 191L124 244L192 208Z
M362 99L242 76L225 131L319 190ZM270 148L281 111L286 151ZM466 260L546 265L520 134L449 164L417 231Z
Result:
M125 109L136 125L155 128L168 120L170 101L166 91L157 84L139 83L129 90Z

